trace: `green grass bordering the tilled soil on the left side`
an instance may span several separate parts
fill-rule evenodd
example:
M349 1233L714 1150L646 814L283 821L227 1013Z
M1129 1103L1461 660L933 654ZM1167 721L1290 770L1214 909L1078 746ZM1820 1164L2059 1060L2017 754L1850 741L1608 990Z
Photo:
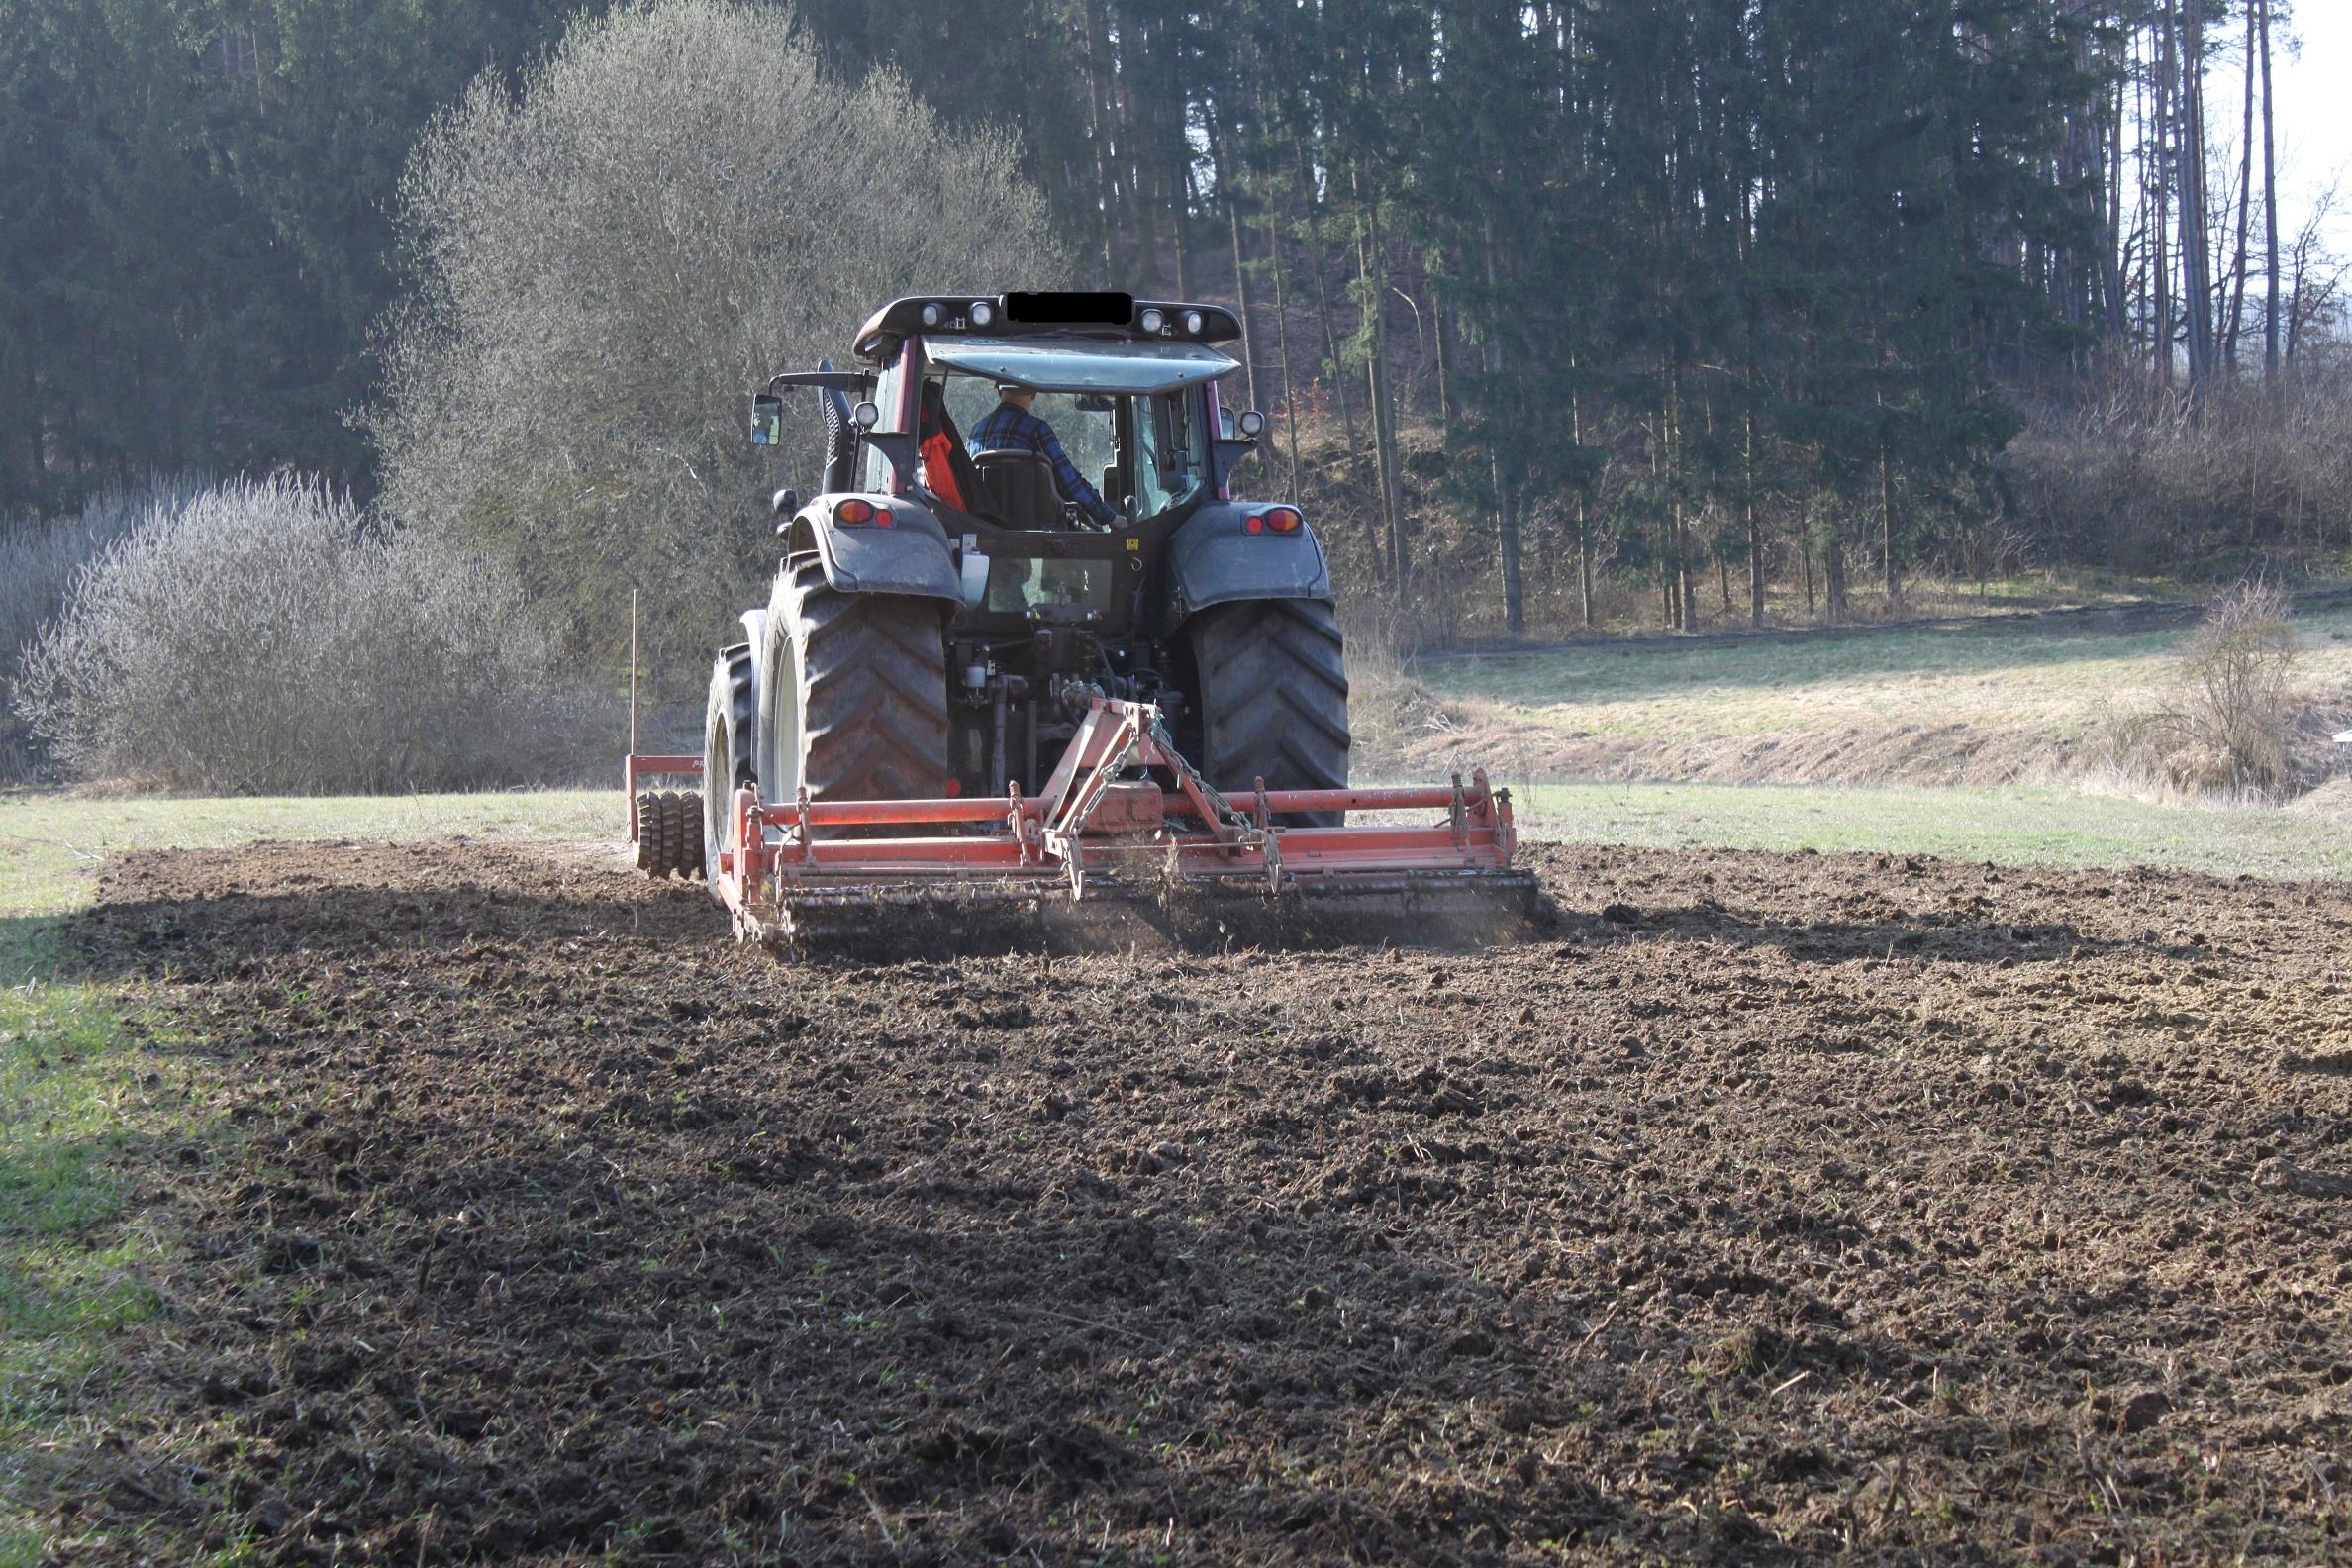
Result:
M132 985L75 978L64 922L106 856L254 839L616 837L619 790L390 799L0 795L0 1568L47 1561L64 1443L103 1422L122 1333L155 1312L158 1244L125 1215L146 1145L207 1135L169 1041L132 1039ZM191 1561L165 1542L162 1559Z

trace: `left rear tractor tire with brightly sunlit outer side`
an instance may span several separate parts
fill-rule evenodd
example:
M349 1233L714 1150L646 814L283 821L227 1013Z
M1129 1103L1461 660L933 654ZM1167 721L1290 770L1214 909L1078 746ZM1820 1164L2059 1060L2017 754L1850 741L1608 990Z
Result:
M950 790L948 639L934 599L835 592L814 555L776 576L760 661L767 799L931 799Z

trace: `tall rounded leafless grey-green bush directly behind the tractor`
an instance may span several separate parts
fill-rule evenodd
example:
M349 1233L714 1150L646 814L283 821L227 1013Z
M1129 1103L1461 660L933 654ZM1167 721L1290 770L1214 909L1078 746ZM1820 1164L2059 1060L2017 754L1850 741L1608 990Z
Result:
M779 369L847 357L920 289L1054 287L1047 205L1007 134L950 132L903 82L830 80L790 12L623 5L572 26L520 92L480 80L421 141L400 223L416 292L367 416L383 505L485 545L567 632L701 691L734 614L767 602L774 484L746 440Z

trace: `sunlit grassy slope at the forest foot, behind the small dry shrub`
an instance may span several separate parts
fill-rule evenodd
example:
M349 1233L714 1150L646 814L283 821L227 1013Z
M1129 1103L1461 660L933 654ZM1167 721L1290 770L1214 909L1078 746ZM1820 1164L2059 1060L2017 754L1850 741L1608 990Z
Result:
M2298 679L2352 684L2352 614L2296 623ZM1428 661L1437 698L1564 736L1689 743L1896 724L2030 729L2072 741L2103 708L2161 698L2183 630L2002 623L1689 646L1670 639Z

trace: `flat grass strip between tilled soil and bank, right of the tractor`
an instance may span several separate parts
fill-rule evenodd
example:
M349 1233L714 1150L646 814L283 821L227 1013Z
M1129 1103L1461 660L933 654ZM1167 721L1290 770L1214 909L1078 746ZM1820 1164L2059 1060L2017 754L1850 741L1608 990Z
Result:
M2216 877L2352 877L2352 823L2263 806L2166 806L2079 790L1524 785L1529 839L1644 849L1875 851L1999 865L2154 865Z

